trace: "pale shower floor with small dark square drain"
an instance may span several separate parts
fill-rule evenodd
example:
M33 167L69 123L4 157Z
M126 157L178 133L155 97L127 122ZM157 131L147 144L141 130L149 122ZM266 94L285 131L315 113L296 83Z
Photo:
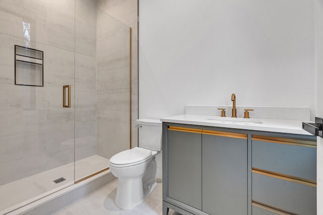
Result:
M75 181L109 167L109 159L94 155L75 162ZM58 184L53 180L65 178ZM0 186L0 214L74 184L74 162Z

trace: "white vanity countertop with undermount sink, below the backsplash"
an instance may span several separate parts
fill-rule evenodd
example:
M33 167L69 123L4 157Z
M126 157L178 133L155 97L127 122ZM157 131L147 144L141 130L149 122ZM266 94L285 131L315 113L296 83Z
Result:
M180 124L311 135L309 132L302 129L301 120L263 118L244 119L210 115L183 114L161 118L160 121Z

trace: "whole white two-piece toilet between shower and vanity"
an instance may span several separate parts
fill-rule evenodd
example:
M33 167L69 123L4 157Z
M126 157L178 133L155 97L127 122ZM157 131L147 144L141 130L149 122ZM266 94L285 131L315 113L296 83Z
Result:
M156 159L161 150L161 121L137 119L139 147L120 152L110 159L110 171L118 178L115 203L122 209L132 209L157 187Z

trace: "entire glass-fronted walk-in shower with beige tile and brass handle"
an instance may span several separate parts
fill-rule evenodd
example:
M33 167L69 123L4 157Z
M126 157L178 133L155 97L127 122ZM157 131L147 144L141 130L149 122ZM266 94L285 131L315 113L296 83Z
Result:
M0 1L0 214L131 147L132 33L105 2Z

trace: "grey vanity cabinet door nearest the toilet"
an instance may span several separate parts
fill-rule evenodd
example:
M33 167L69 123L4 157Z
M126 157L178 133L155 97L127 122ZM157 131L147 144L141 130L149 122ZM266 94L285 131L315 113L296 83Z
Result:
M202 209L201 133L168 130L168 195Z

